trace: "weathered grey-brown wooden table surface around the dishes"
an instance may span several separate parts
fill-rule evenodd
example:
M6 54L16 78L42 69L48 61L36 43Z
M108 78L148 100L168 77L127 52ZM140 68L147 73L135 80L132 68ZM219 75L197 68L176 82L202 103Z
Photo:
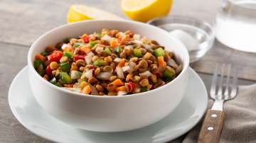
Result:
M119 0L1 0L0 1L0 142L48 142L26 130L11 113L8 90L14 76L26 66L26 55L31 43L46 31L66 23L71 4L87 4L106 11L124 14ZM218 0L176 0L171 15L186 15L214 22ZM203 59L191 64L209 89L216 62L236 64L239 67L239 84L256 81L256 55L232 50L220 42ZM246 80L245 80L246 79Z

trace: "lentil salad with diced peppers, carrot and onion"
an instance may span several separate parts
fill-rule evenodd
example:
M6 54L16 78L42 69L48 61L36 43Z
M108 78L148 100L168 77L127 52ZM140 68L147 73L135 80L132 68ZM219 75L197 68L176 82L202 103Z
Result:
M155 40L127 30L68 38L36 55L34 68L55 86L98 96L150 91L178 76L182 64Z

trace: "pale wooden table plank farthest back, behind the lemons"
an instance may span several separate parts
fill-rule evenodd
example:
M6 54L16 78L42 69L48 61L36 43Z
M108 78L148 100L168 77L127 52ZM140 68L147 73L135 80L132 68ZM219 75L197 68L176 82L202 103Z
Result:
M125 17L119 0L1 0L0 41L31 45L46 31L66 23L66 13L71 4L87 4ZM174 1L173 15L186 15L213 21L218 1Z

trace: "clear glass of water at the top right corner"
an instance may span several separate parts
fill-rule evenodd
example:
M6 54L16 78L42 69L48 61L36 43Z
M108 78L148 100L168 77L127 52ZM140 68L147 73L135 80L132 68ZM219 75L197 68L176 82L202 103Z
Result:
M224 45L256 52L256 0L221 0L215 30Z

